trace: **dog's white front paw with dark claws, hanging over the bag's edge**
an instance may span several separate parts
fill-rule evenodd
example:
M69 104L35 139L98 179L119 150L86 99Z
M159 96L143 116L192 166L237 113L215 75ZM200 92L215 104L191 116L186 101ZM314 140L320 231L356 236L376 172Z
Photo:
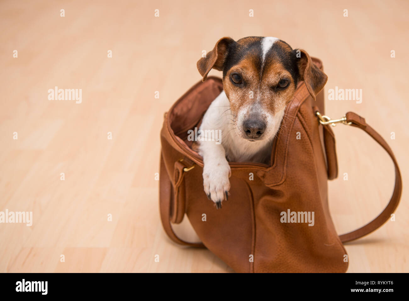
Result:
M207 198L215 202L217 209L221 208L222 201L228 198L230 175L231 170L226 159L220 162L207 163L203 167L203 187Z

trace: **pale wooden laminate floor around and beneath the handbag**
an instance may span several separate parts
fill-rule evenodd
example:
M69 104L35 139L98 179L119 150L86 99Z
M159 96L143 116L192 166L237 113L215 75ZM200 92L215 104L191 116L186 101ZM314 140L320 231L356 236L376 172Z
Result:
M408 8L407 1L0 2L0 211L33 212L31 227L0 224L0 272L231 271L209 251L166 238L155 180L163 113L200 80L196 61L222 36L279 37L321 58L326 95L335 86L362 89L362 103L327 100L326 113L364 116L390 144L406 184ZM48 100L55 86L82 89L82 103ZM341 177L330 182L329 199L341 234L384 208L394 174L362 131L334 130ZM409 272L407 197L405 188L395 222L346 245L348 272Z

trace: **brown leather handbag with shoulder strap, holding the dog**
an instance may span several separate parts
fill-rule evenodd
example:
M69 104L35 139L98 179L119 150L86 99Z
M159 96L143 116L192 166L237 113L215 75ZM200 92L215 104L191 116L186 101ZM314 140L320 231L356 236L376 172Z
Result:
M321 61L313 61L322 69ZM166 234L181 245L207 247L236 272L346 272L342 243L378 229L400 200L402 180L388 144L353 112L330 120L324 115L323 91L314 101L301 82L286 108L285 126L275 139L270 164L230 162L229 200L216 210L203 191L202 157L192 150L187 137L222 89L221 79L209 77L165 114L159 195ZM360 229L340 236L327 196L327 180L338 173L331 130L337 122L360 128L375 139L391 156L396 173L395 189L384 211ZM313 225L304 214L312 212ZM173 232L171 223L180 223L185 213L202 243L185 242Z

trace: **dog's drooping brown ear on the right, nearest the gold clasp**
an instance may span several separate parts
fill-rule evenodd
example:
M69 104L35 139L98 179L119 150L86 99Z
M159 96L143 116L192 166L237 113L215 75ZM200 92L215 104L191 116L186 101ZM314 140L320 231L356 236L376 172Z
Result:
M305 50L295 49L294 52L300 75L299 79L305 82L308 92L315 100L315 96L324 88L328 76L319 70Z

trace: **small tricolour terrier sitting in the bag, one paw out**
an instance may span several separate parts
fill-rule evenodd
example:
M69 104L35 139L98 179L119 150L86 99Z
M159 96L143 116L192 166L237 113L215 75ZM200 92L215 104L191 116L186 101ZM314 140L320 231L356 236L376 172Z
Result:
M299 81L315 99L327 76L306 51L274 37L221 38L197 67L203 81L212 68L223 72L223 91L203 116L197 146L205 193L219 209L229 197L229 162L268 163ZM204 137L212 130L221 130L221 143Z

